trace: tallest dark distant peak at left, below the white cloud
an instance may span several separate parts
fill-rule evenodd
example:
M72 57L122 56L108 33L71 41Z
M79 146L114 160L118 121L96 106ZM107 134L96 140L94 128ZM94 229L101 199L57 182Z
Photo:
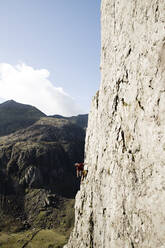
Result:
M46 116L37 108L13 100L0 104L0 136L32 125Z

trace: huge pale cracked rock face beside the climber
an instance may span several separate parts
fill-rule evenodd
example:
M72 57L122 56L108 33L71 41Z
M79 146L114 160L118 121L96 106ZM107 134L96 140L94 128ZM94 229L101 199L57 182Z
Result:
M68 248L165 247L165 1L102 0L102 82Z

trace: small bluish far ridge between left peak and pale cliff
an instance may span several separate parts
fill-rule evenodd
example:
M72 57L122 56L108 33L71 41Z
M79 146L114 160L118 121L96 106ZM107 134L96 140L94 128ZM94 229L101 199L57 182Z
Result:
M69 120L72 123L74 123L74 124L76 124L82 128L85 128L85 129L86 129L87 124L88 124L88 114L71 116L71 117L64 117L62 115L53 115L51 117Z

